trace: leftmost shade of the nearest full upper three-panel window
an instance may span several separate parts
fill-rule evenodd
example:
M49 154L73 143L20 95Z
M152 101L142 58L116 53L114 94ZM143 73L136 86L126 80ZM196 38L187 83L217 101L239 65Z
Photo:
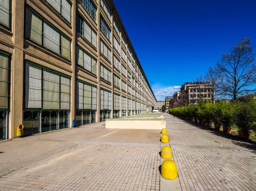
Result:
M26 8L25 37L42 45L42 19Z

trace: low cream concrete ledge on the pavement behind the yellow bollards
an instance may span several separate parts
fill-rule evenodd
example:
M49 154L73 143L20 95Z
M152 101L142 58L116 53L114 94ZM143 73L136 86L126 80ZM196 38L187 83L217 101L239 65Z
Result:
M106 128L161 130L162 128L166 128L166 121L165 119L157 118L106 119Z

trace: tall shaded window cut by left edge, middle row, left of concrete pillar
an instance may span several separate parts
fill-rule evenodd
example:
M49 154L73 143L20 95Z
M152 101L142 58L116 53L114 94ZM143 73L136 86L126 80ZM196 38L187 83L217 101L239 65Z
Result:
M7 109L9 106L9 54L2 52L0 52L0 87L0 108Z

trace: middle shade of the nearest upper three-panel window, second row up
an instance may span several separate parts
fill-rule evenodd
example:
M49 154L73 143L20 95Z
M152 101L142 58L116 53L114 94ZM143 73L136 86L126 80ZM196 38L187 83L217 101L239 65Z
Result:
M44 22L44 47L60 54L60 33Z

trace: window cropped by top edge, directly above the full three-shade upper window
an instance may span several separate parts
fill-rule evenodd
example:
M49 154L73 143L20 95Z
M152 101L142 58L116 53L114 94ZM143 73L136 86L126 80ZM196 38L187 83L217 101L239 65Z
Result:
M68 0L46 0L68 23L71 23L71 3Z

